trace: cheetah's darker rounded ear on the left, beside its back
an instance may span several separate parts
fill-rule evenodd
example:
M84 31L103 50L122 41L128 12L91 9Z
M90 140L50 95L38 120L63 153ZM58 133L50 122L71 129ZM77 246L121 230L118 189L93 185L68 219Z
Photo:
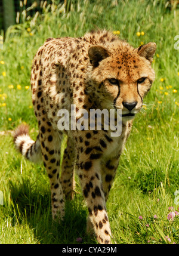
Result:
M110 56L110 52L100 45L92 45L88 50L88 56L92 66L97 67L101 60Z

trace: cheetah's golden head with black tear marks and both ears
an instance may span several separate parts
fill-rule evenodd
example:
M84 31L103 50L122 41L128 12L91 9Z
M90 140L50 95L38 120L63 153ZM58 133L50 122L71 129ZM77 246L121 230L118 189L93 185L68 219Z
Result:
M121 109L122 120L128 121L140 111L143 97L155 79L151 63L156 44L149 42L134 49L126 42L119 42L117 46L89 48L90 81L101 108Z

